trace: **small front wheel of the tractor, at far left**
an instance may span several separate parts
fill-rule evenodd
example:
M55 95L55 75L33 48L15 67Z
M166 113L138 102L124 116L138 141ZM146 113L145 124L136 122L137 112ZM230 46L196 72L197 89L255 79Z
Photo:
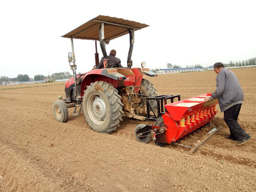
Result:
M53 114L55 119L59 122L67 122L68 119L68 109L64 101L55 101L53 105Z

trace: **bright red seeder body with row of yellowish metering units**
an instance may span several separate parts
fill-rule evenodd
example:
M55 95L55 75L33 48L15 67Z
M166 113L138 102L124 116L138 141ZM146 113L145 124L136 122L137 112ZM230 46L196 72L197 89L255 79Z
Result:
M206 125L217 113L216 105L218 99L211 101L191 101L194 98L205 98L211 96L211 93L206 93L200 96L195 96L189 99L184 99L178 102L173 102L165 105L166 113L163 114L164 128L166 131L163 134L156 135L156 141L162 143L174 143L187 134ZM191 107L175 106L180 103L198 103ZM187 104L182 104L187 105ZM152 129L159 128L156 125Z

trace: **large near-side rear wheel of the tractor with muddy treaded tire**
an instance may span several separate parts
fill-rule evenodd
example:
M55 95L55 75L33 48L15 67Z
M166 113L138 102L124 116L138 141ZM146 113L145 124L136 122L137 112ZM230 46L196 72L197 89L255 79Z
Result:
M98 116L93 112L93 96L94 98L100 98L101 103L105 102L105 119L103 120L98 120ZM101 108L103 108L102 106ZM87 89L84 91L84 117L90 128L99 133L111 134L119 127L124 115L122 106L121 96L118 95L118 91L107 82L96 81L87 86Z

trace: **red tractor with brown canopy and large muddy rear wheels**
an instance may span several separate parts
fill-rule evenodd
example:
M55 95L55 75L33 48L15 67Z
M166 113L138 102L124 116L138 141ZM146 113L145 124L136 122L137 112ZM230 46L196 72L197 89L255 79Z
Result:
M69 52L68 58L73 77L65 84L66 98L59 97L60 100L54 103L53 113L56 120L67 122L68 108L74 107L73 115L79 115L83 110L91 129L111 134L119 126L123 116L140 120L154 119L153 115L157 117L157 101L147 99L157 96L156 89L148 80L143 79L143 75L157 75L144 68L145 62L141 64L141 68L131 68L134 32L147 26L135 21L99 15L62 36L71 39L72 53ZM126 34L130 35L127 67L108 68L105 44ZM76 74L73 39L95 40L96 65L93 70ZM95 69L99 65L96 41L99 41L102 49L104 69ZM77 108L80 108L79 112L76 111Z

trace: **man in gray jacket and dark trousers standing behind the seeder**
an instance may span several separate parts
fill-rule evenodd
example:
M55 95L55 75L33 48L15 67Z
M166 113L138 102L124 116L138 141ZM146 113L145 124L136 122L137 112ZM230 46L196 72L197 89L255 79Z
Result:
M238 140L238 145L244 144L252 137L241 128L237 122L241 105L244 101L244 93L241 85L232 71L225 69L222 63L213 65L216 78L216 90L212 96L205 98L204 101L209 101L218 98L221 112L224 111L224 121L230 128L230 140Z

